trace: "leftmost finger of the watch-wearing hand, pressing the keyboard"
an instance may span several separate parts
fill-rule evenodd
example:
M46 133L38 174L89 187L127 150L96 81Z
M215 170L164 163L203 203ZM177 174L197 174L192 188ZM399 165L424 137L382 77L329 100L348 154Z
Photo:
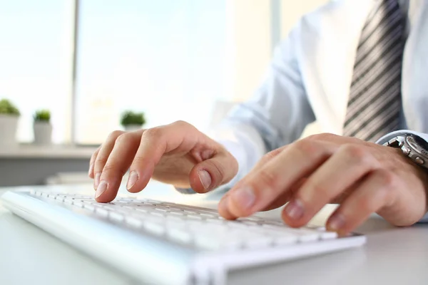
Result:
M230 213L235 217L246 217L264 209L307 177L336 149L337 145L330 142L300 140L293 143L230 190Z

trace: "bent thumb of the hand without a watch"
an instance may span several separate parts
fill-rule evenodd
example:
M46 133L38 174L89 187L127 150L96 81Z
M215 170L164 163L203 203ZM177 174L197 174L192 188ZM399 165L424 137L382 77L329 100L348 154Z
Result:
M238 173L238 162L229 152L220 152L198 163L190 170L190 187L195 192L206 193L223 185Z

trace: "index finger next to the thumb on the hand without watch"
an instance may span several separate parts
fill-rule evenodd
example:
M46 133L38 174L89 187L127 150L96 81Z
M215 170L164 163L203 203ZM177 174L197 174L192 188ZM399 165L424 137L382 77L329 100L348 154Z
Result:
M205 141L201 140L204 140L202 133L199 133L193 125L185 122L175 122L144 131L136 157L130 167L128 191L139 192L146 187L163 155L190 152L198 143L204 144ZM199 156L195 160L195 163L198 163L202 161L202 158ZM188 165L183 165L183 167L185 166ZM190 170L191 167L189 167L188 172ZM171 175L173 174L171 173Z

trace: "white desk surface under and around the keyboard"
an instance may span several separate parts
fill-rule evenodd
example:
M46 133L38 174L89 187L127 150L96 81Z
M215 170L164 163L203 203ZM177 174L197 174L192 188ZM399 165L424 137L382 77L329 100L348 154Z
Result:
M91 187L74 186L73 189ZM183 199L170 187L153 183L146 197ZM0 189L0 195L6 191ZM156 197L158 196L158 197ZM215 207L215 202L188 204ZM332 207L312 221L322 224ZM263 213L278 219L278 211ZM230 274L229 284L428 284L428 224L394 228L372 217L357 232L367 234L360 249ZM0 284L132 284L121 272L77 252L43 230L1 208Z

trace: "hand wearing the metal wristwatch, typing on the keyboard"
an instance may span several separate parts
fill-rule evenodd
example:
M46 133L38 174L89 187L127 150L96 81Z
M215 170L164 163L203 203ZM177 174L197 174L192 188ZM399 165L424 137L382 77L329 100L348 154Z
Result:
M338 135L314 135L273 150L220 201L226 219L289 202L282 219L302 227L325 204L340 207L327 229L346 234L377 214L397 226L427 212L427 171L401 150Z

